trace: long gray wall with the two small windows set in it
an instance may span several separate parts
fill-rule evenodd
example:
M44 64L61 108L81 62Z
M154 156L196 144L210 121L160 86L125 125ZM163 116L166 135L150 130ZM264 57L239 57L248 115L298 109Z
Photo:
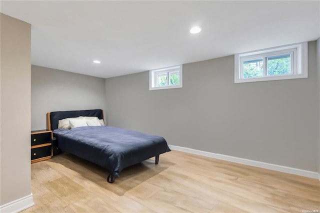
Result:
M316 42L308 78L234 83L233 55L183 64L183 87L148 90L148 72L105 79L108 124L169 144L318 170Z

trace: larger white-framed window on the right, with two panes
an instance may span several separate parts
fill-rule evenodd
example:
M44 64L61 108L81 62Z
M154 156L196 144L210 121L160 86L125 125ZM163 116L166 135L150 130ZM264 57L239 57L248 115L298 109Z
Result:
M234 82L307 77L307 42L234 55Z

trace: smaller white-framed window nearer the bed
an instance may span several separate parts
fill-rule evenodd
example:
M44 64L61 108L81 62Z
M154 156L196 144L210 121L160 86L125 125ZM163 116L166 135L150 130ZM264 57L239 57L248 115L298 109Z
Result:
M182 65L149 71L149 90L182 87Z

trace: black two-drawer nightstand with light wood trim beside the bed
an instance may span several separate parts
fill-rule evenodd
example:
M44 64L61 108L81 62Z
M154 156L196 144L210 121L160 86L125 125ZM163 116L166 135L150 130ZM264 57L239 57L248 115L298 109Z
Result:
M52 157L52 131L31 131L31 163Z

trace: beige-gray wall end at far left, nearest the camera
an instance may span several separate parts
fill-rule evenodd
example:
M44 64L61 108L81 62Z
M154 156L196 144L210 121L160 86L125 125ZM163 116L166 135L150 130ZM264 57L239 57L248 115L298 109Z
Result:
M31 194L31 25L1 13L0 26L0 205L3 205Z

